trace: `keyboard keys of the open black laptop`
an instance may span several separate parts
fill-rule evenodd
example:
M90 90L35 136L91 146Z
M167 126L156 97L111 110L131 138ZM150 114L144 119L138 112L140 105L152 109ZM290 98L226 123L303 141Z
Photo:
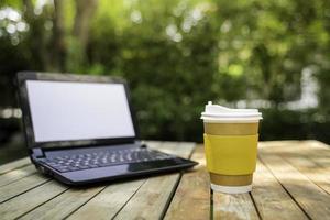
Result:
M57 156L53 158L45 158L42 162L58 172L65 173L128 163L160 161L173 157L175 156L147 148L127 148Z

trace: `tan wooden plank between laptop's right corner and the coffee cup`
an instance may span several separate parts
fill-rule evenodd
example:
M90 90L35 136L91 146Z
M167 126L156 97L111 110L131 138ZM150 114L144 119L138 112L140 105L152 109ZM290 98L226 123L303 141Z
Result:
M209 219L210 184L202 145L196 147L191 160L199 164L183 175L166 212L166 220Z

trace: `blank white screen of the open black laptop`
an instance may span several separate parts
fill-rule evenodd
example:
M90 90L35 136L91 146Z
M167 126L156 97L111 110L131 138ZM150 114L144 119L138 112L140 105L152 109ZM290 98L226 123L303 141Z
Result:
M35 142L134 138L123 84L26 80Z

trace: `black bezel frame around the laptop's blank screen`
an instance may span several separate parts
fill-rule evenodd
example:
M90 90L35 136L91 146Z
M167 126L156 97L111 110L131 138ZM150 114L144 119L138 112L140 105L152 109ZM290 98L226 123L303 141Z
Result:
M112 144L120 144L120 143L133 143L140 140L140 132L139 132L136 116L131 102L130 90L127 81L122 78L110 77L110 76L78 75L78 74L19 72L16 75L16 79L18 79L19 101L22 110L25 142L29 148L37 147L37 148L51 150L51 148L79 147L79 146L112 145ZM25 84L26 80L122 84L125 89L135 136L36 142L34 139L33 122L32 122L30 103L28 98L28 88Z

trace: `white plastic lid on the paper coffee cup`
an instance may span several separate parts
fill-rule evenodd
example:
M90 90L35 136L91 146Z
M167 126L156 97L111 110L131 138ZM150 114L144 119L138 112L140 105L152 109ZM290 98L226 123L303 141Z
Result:
M209 123L253 123L262 119L262 113L257 109L230 109L209 101L201 119Z

